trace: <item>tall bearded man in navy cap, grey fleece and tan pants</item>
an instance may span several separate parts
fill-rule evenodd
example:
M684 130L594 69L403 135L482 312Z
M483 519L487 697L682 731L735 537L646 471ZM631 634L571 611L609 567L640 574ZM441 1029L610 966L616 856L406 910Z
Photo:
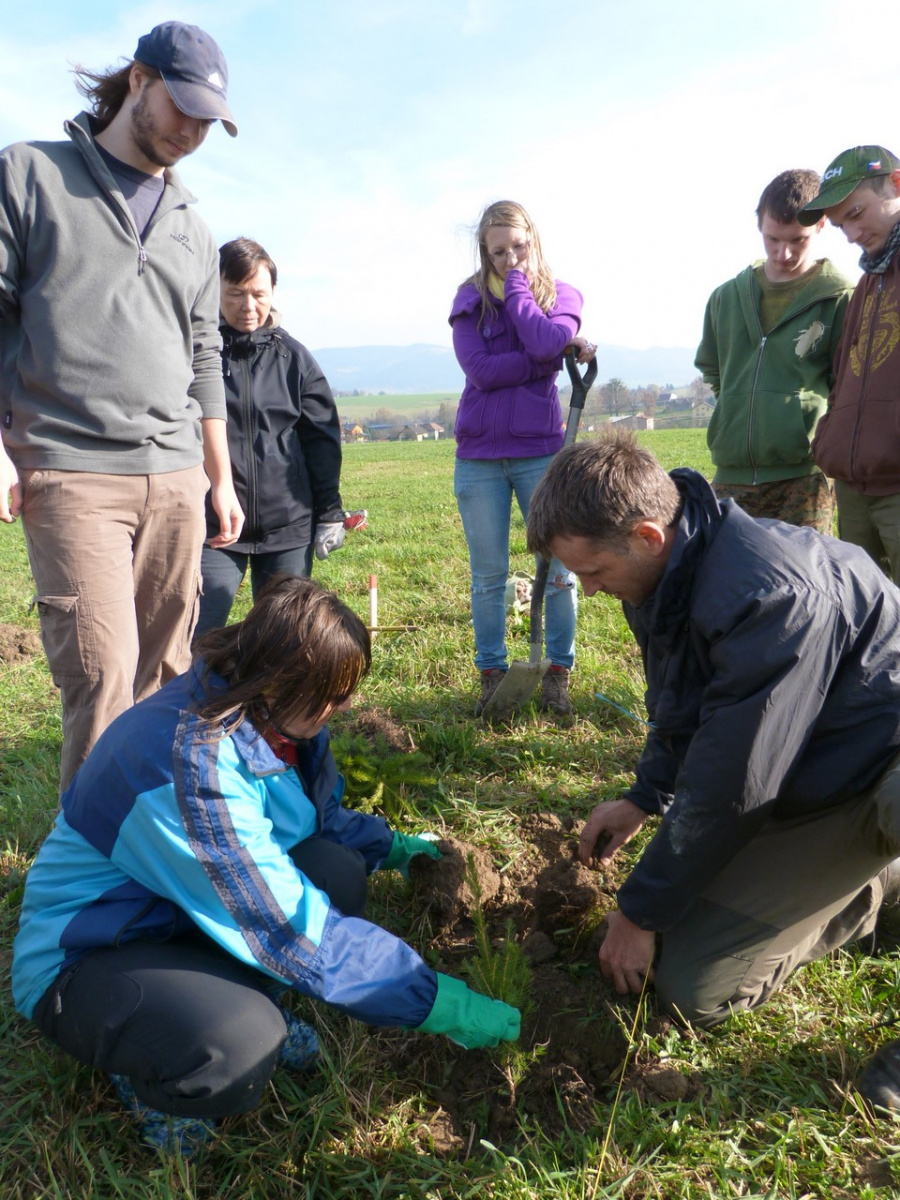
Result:
M238 132L224 58L167 22L127 67L79 76L92 114L68 140L0 154L0 520L25 528L62 788L114 716L188 665L208 488L212 545L244 520L216 244L172 169L215 120Z

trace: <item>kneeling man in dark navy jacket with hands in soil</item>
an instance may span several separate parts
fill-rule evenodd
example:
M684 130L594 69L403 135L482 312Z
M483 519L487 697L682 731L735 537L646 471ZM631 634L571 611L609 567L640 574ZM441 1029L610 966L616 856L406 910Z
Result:
M619 599L643 658L635 782L580 845L606 864L661 816L600 952L618 991L655 976L670 1012L715 1025L870 934L900 853L900 590L628 434L554 460L528 545Z

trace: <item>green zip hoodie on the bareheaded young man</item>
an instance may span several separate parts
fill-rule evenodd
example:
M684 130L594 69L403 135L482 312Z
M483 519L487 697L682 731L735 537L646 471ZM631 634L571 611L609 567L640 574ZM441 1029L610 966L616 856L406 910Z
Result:
M754 266L709 298L695 359L718 401L707 431L716 484L769 484L816 469L812 436L834 382L853 290L822 259L821 270L763 335Z

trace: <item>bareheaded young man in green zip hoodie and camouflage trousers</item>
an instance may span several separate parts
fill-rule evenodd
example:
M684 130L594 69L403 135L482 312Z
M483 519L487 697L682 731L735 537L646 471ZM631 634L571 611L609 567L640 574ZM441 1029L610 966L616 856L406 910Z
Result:
M695 361L716 396L707 440L719 498L830 534L833 490L811 443L853 284L816 258L824 220L797 220L817 191L814 170L785 170L763 191L766 259L712 294Z

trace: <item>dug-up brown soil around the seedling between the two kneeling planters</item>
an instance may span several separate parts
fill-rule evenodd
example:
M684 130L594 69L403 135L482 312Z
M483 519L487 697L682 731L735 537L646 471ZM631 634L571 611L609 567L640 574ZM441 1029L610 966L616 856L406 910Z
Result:
M526 852L503 870L485 850L456 839L438 844L439 862L410 864L413 904L431 919L427 950L437 970L467 977L467 961L478 953L472 922L478 905L492 946L502 949L511 923L533 970L517 1055L509 1048L451 1048L422 1061L421 1042L391 1038L395 1067L406 1061L410 1074L424 1075L436 1100L436 1151L461 1152L480 1138L515 1141L523 1121L539 1122L551 1136L602 1124L625 1058L625 1037L596 959L618 878L576 859L571 822L539 814L524 820L522 836ZM691 1081L654 1063L632 1068L630 1086L659 1103L683 1098Z

